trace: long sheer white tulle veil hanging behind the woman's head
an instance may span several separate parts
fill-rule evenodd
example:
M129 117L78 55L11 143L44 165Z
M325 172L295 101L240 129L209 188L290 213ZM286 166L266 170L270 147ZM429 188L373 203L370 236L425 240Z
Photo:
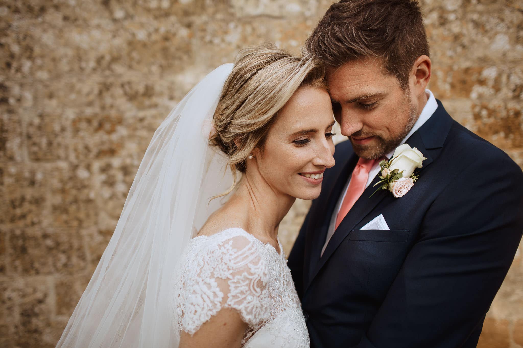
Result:
M228 189L210 120L233 64L213 70L155 131L120 219L58 347L177 347L169 283L190 237Z

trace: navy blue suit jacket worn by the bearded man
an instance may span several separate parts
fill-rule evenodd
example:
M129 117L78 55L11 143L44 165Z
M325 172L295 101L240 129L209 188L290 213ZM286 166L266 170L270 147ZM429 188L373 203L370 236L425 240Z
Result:
M367 187L321 249L358 161L325 171L288 265L312 347L475 347L523 232L523 172L441 102L406 143L427 160L408 193ZM360 230L383 214L390 231Z

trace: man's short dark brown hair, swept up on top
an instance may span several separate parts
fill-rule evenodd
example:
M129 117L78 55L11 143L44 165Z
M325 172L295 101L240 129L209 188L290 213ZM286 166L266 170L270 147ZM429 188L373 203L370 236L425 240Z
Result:
M334 3L305 42L305 51L327 66L358 58L380 58L403 89L416 59L429 55L423 14L413 0Z

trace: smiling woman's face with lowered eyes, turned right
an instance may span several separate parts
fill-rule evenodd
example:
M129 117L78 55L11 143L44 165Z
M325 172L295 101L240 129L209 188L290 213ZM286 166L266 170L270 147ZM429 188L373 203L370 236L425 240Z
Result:
M301 199L318 197L323 172L334 165L333 125L328 93L299 88L278 113L263 151L253 152L261 177L279 193Z

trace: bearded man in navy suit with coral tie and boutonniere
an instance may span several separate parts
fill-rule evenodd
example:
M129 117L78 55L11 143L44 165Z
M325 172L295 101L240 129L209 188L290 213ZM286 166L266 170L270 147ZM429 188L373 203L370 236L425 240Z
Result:
M306 50L328 67L349 138L288 262L311 346L475 347L521 239L521 169L426 90L415 1L335 3ZM403 143L404 178L370 197Z

